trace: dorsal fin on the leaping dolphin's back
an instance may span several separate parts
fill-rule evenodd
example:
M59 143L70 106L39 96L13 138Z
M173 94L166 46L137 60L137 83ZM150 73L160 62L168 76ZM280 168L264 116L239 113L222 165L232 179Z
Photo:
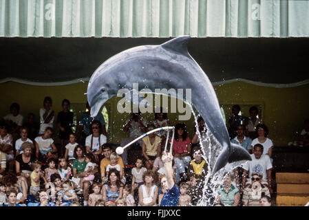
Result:
M175 53L182 54L184 56L190 56L188 52L188 42L190 36L178 36L175 39L171 39L160 46L165 50L173 51Z

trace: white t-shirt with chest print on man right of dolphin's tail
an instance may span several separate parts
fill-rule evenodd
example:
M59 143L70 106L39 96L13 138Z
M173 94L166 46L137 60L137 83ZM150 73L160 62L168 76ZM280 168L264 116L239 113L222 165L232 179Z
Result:
M251 154L251 161L248 160L242 168L249 171L249 179L248 181L251 182L252 173L262 173L263 174L263 181L267 180L267 173L266 170L273 168L270 162L270 157L268 155L262 155L259 159L255 158L254 154Z

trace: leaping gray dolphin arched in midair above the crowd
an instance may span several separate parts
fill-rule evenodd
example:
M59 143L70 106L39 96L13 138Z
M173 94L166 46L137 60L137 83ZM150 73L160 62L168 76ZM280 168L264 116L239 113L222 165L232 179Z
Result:
M112 56L92 75L87 99L94 117L118 89L191 89L191 105L200 113L209 131L222 146L212 175L227 162L251 160L248 152L230 142L220 105L208 76L187 50L189 36L179 36L162 45L133 47Z

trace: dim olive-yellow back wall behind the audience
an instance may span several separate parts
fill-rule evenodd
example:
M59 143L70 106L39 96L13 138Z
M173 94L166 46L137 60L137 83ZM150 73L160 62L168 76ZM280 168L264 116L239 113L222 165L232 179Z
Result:
M85 110L87 96L87 82L75 83L63 86L32 86L21 83L1 83L1 109L0 116L9 113L10 104L18 102L21 106L21 114L24 122L27 114L32 112L39 120L39 108L43 106L45 96L52 97L52 109L56 113L61 111L61 101L67 98L76 110L77 118ZM260 117L268 126L269 137L275 146L286 146L292 140L297 131L301 130L303 120L309 118L309 85L293 88L273 88L259 87L248 83L229 83L226 85L215 86L217 98L223 107L226 118L231 115L231 105L239 104L242 107L243 115L248 116L248 108L251 104L257 104L260 109ZM128 113L120 114L117 111L117 102L120 98L111 98L106 103L106 107L111 112L109 142L118 143L128 136L124 133L122 125L129 118ZM147 120L152 120L150 113L143 114ZM168 113L169 119L173 124L178 122L178 113ZM56 119L55 119L56 120ZM186 122L189 136L193 135L193 116ZM55 135L56 139L56 135Z

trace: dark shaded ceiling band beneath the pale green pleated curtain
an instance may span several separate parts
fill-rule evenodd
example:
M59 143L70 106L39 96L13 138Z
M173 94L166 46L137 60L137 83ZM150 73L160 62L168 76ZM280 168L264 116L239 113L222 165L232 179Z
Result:
M0 38L0 80L63 82L89 78L122 50L158 45L158 38ZM189 53L211 82L244 78L262 83L309 79L307 38L192 38Z

